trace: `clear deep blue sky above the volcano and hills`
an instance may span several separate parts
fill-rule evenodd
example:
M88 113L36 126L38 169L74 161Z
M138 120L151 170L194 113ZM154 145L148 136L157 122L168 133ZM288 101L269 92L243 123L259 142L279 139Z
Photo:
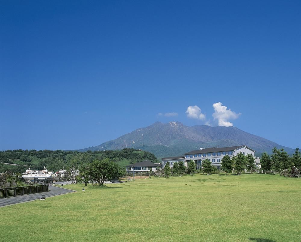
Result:
M300 1L1 1L0 150L80 149L155 121L231 122L301 148L300 10ZM215 119L214 103L227 106Z

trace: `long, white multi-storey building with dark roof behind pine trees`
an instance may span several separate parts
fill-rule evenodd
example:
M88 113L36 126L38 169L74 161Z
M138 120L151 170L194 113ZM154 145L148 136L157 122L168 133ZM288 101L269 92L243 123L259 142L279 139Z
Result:
M255 151L251 148L247 147L246 145L239 145L239 146L231 146L231 147L224 147L224 148L205 148L196 151L190 151L185 153L183 157L166 157L162 158L162 166L166 165L169 162L170 167L173 166L173 162L183 161L185 166L187 166L187 162L190 160L194 160L197 164L197 169L202 167L202 160L210 160L213 166L216 166L217 169L221 167L221 160L225 155L231 157L236 156L238 153L243 153L244 155L251 154L256 159L256 163L259 163L259 157L255 157ZM175 159L176 158L176 159Z

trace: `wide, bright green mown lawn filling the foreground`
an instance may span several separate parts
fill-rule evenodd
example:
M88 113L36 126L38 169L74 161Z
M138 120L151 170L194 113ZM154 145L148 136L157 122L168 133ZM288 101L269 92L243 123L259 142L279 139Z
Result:
M301 179L223 174L68 185L0 208L0 241L301 241Z

